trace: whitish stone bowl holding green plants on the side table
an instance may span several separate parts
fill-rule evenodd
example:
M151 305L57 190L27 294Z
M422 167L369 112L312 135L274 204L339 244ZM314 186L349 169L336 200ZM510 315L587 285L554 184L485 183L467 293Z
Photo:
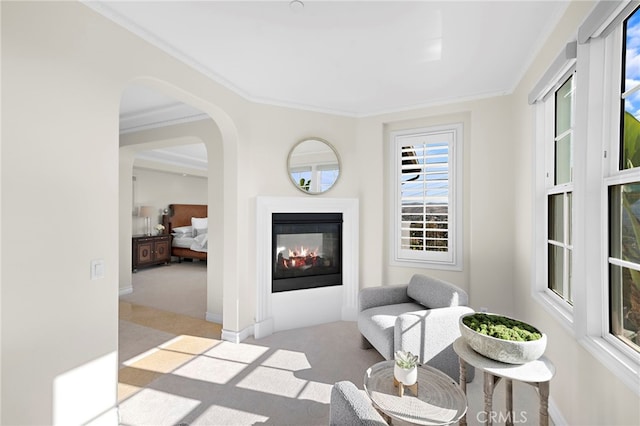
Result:
M480 334L463 322L463 318L474 315L477 312L462 315L459 320L460 334L471 348L481 355L496 361L506 362L508 364L526 364L534 361L544 354L547 348L547 335L540 332L542 337L538 340L528 342L518 342L514 340L498 339L496 337ZM498 314L485 314L489 316L500 316ZM520 321L520 320L518 320ZM534 327L535 328L535 327Z

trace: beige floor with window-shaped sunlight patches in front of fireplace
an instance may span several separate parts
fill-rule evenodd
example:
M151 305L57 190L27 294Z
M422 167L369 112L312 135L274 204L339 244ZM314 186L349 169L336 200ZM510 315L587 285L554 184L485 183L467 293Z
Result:
M134 274L134 294L137 280L153 281L142 273ZM154 275L162 280L162 274ZM202 270L201 275L206 277ZM153 287L161 289L157 282ZM360 348L353 322L282 331L234 344L220 340L220 325L200 319L204 307L201 313L186 309L191 315L185 315L167 310L171 303L161 302L160 296L150 296L149 302L138 294L137 303L131 296L120 301L118 400L123 426L327 425L333 383L350 380L362 389L366 369L382 360L375 350ZM179 298L180 310L185 311L190 295ZM516 422L538 424L534 388L516 382L513 394ZM481 375L468 385L468 400L468 424L480 424ZM496 388L494 411L504 416L502 383ZM498 417L494 424L504 421Z

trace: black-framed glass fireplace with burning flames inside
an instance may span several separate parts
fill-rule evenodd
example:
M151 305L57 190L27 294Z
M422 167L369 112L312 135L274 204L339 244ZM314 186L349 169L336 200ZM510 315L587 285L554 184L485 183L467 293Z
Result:
M273 213L272 292L342 285L342 213Z

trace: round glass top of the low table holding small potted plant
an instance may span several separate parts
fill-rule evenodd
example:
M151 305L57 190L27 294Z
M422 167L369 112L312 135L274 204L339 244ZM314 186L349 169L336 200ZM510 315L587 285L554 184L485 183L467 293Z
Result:
M394 361L371 366L364 376L364 388L383 416L418 425L449 425L467 412L467 398L458 384L429 366L418 367L418 395L398 396L393 384Z

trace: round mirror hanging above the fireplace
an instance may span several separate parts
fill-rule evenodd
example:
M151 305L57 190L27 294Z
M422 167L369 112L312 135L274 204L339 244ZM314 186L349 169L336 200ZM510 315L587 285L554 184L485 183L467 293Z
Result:
M287 167L295 187L307 194L328 191L340 176L336 150L320 138L298 142L289 152Z

